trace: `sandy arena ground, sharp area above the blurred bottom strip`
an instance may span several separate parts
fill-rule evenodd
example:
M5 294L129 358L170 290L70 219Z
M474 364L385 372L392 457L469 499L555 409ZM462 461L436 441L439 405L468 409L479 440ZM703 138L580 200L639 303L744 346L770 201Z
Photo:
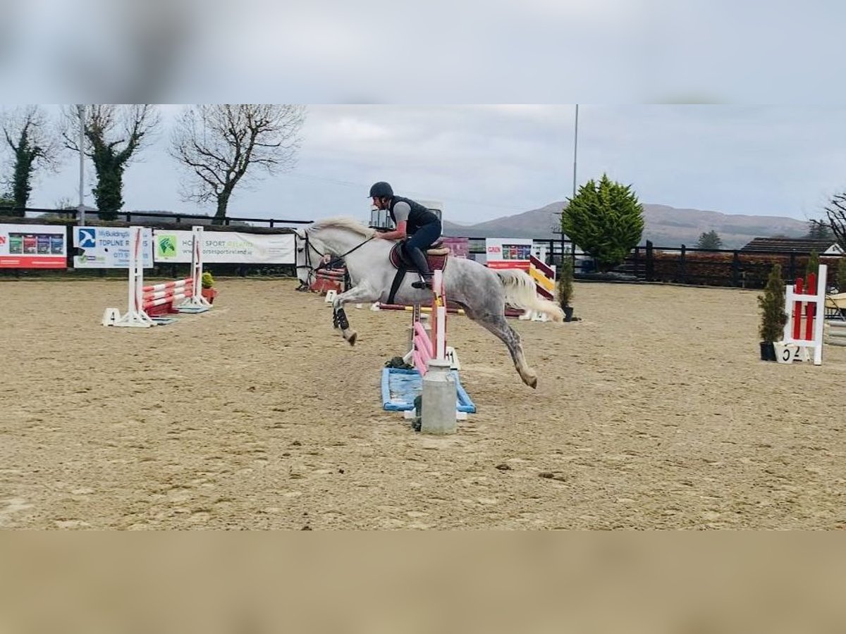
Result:
M100 325L122 281L2 281L3 528L842 528L846 348L758 360L758 292L577 284L582 321L512 320L539 374L451 317L479 413L448 438L383 412L409 316L291 280Z

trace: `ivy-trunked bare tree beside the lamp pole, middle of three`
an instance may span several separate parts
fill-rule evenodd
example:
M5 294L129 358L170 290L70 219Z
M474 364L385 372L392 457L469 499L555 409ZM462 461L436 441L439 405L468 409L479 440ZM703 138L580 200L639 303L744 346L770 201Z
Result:
M65 121L65 145L79 151L76 107L65 108ZM97 184L91 192L103 220L113 220L124 206L124 170L151 140L159 121L152 104L85 107L85 156L94 163Z

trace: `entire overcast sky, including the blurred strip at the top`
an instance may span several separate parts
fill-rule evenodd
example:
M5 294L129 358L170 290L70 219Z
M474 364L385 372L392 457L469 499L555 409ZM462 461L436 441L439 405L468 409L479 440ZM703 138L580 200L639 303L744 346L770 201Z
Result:
M386 179L459 222L568 196L574 107L431 104L783 104L581 107L578 178L802 219L846 188L844 24L842 0L0 0L0 87L7 103L416 104L311 106L299 167L231 210L366 216ZM196 210L166 152L177 111L126 172L129 210ZM69 158L32 202L75 200L76 180Z

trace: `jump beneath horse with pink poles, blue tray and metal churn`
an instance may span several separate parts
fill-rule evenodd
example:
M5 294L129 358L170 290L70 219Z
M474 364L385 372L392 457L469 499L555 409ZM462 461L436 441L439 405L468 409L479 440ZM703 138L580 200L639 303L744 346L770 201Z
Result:
M420 319L420 307L412 313L411 350L404 361L415 369L382 370L382 402L386 410L403 411L414 418L414 400L421 394L420 431L451 434L456 419L475 413L475 405L464 391L456 369L451 368L447 347L447 298L443 272L432 277L431 328L427 332ZM453 361L457 362L454 358Z

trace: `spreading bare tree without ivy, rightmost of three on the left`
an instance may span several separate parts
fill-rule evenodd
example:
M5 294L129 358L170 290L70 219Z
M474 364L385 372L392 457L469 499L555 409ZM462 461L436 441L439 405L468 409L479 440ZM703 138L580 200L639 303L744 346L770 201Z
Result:
M304 122L305 107L288 104L186 107L173 131L171 150L191 175L184 183L184 199L213 199L215 218L223 218L236 185L255 178L256 172L272 175L294 168Z

